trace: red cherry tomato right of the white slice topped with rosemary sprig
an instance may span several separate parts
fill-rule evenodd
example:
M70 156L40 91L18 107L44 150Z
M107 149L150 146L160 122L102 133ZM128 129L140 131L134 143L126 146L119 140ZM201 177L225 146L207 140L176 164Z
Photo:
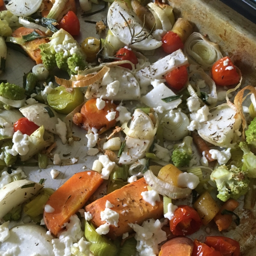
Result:
M166 53L172 53L178 49L183 49L184 44L181 41L180 37L172 31L168 31L162 38L162 47Z

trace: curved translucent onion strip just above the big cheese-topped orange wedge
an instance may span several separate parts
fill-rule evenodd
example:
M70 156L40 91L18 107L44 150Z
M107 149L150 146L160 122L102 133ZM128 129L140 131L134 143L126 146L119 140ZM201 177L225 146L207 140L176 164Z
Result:
M172 199L185 198L192 192L192 189L179 188L158 179L150 170L144 173L144 178L148 185L151 187L151 189L154 189L160 195L166 195Z

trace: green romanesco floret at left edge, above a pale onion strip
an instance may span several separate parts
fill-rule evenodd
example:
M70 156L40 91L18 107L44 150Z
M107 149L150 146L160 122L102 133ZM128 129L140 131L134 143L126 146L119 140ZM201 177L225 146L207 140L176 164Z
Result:
M0 96L6 99L22 100L25 97L25 89L15 84L1 83Z

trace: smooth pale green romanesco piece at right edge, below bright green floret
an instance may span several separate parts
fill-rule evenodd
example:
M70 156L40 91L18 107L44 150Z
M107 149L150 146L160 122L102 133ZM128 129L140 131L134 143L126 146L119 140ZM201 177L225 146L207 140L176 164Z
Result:
M256 178L256 155L250 151L246 142L240 142L239 147L244 151L242 171L246 172L248 177Z

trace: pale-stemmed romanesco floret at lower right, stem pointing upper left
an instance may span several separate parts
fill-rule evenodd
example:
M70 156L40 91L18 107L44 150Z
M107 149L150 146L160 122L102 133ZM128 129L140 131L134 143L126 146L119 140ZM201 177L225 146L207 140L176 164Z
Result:
M249 189L249 180L236 166L230 170L227 166L222 165L215 169L211 174L211 180L217 185L217 197L226 202L229 198L238 199L245 195Z

